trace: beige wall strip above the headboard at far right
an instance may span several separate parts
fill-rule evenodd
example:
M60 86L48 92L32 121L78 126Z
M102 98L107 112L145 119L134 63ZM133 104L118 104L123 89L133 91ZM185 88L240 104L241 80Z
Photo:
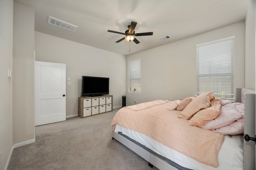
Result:
M255 19L255 0L250 0L245 21L245 87L251 89L255 89Z

